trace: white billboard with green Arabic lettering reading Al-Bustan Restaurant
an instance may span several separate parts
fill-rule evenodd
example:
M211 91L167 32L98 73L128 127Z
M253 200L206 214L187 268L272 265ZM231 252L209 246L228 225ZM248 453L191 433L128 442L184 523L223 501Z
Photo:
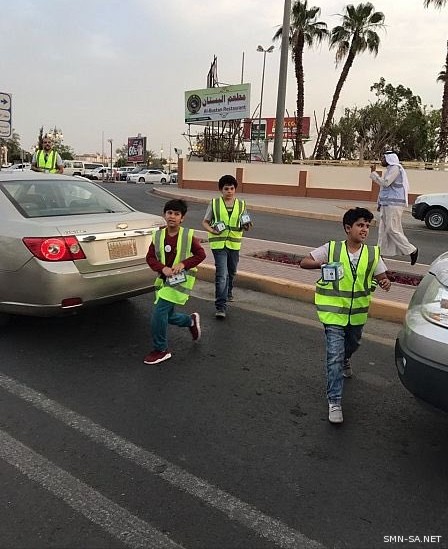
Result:
M185 123L208 124L250 116L250 84L185 92Z

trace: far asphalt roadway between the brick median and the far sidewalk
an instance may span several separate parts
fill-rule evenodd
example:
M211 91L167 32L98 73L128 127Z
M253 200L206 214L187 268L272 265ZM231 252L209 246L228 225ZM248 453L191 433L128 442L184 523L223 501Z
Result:
M107 183L107 189L120 196L132 207L149 213L161 214L166 198L151 193L152 185L131 185L127 183ZM186 224L194 229L202 229L201 221L205 214L206 205L190 203ZM301 217L255 212L253 214L254 228L247 238L261 238L274 242L300 244L302 246L318 247L330 239L344 238L341 223L323 221ZM422 223L406 224L406 235L419 248L419 262L430 264L441 253L448 249L448 235L446 231L431 231ZM375 227L370 230L370 242L376 242L378 231ZM399 259L399 258L397 258ZM408 260L408 257L404 257Z

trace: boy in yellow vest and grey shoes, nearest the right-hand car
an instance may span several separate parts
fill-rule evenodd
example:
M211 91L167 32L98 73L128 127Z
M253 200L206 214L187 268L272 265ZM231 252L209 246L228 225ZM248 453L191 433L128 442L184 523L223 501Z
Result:
M358 349L376 284L390 290L378 246L368 246L373 214L365 208L345 212L346 240L330 242L302 259L303 269L321 269L315 304L326 338L328 419L342 423L344 378L352 377L351 357Z

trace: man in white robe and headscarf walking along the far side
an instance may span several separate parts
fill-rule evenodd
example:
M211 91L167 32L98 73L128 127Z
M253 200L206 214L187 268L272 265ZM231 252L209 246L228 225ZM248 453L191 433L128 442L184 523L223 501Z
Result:
M401 223L404 208L408 205L409 182L406 170L393 151L384 153L381 166L386 168L384 177L380 177L374 165L370 167L370 178L381 187L378 196L378 245L381 254L388 257L409 255L411 265L415 265L418 248L406 238Z

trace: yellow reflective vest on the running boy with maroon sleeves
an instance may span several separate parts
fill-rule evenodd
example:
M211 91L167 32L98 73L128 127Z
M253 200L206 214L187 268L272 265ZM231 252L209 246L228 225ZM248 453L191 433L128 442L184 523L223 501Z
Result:
M156 258L160 263L165 265L165 236L166 229L160 229L154 234L154 250ZM179 234L177 235L177 249L176 257L174 258L173 265L181 263L184 259L191 257L191 243L193 241L194 230L184 229L180 227ZM175 286L169 286L165 280L160 276L157 277L155 282L156 287L156 299L157 303L159 298L171 301L178 305L184 305L190 297L191 290L193 289L196 281L197 269L189 269L185 271L187 280L176 284Z

